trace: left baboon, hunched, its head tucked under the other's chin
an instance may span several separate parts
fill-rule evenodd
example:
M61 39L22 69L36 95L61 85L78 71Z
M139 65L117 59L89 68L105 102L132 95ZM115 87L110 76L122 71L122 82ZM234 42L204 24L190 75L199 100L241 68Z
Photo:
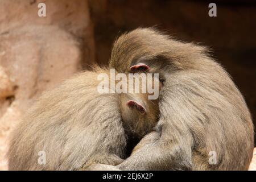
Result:
M100 73L109 76L108 69L96 67L36 100L11 134L10 170L83 170L97 163L115 166L125 158L128 133L143 137L142 131L151 131L159 117L158 101L149 101L147 93L99 93ZM46 161L40 164L42 157Z

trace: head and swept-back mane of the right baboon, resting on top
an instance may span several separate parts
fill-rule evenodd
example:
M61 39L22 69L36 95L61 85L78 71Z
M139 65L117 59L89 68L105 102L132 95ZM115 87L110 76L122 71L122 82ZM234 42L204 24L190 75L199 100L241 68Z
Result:
M205 52L205 47L174 40L153 28L138 28L115 41L109 65L117 72L159 73L162 80L167 73L208 68Z

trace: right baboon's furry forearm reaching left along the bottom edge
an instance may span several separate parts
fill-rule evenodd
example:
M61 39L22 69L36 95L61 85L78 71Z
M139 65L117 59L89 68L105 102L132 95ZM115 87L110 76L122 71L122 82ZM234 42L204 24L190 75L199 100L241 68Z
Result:
M170 140L162 137L156 131L146 135L131 156L117 167L121 170L191 170L189 143L172 136Z

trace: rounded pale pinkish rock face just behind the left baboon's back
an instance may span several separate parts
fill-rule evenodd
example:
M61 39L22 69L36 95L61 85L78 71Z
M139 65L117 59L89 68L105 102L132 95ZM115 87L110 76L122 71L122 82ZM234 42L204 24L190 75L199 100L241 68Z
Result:
M18 90L16 100L34 97L81 67L79 43L58 27L22 27L2 35L1 40L5 54L0 56L0 64Z

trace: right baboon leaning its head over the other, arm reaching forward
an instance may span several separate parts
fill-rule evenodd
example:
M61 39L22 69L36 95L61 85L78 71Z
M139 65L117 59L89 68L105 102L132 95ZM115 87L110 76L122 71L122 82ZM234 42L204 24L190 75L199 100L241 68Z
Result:
M254 147L249 109L207 48L177 41L153 28L138 28L115 41L109 65L118 72L159 73L163 82L154 131L119 169L249 168Z

